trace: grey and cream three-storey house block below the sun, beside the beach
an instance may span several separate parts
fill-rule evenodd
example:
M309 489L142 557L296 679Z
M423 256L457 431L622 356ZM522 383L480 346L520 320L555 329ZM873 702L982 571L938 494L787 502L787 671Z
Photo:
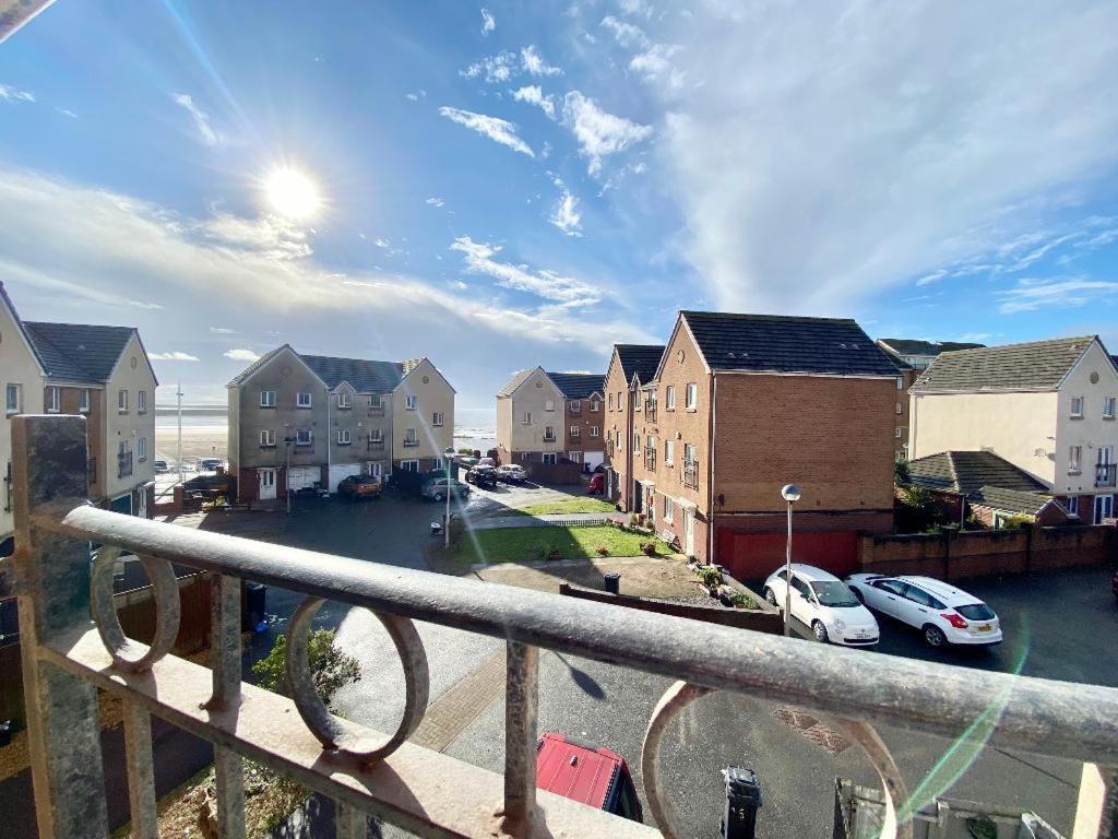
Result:
M284 345L228 385L229 469L268 502L352 474L426 472L454 441L454 388L429 359L371 361Z

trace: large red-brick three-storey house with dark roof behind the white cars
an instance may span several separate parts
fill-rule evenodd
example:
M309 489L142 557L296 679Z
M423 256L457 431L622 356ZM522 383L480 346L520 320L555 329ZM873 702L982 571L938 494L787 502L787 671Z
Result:
M625 356L607 379L612 426ZM625 396L628 451L615 441L610 460L631 469L624 507L749 579L783 562L780 488L796 483L796 558L850 571L859 531L892 530L897 375L852 320L680 312L655 371Z

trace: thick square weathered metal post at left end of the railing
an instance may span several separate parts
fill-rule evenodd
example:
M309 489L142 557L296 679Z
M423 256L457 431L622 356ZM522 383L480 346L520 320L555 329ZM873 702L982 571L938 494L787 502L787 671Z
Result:
M89 625L89 546L37 525L86 503L85 417L12 418L16 585L28 746L40 839L108 835L97 694L41 660Z

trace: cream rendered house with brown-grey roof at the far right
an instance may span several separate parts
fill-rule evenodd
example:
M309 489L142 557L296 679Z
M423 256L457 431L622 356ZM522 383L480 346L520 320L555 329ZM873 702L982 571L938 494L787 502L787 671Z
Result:
M910 400L912 459L994 452L1083 521L1115 517L1118 369L1098 336L944 352Z

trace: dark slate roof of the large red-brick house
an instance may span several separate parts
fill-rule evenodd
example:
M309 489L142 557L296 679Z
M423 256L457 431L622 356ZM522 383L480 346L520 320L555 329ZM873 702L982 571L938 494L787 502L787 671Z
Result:
M896 376L893 357L850 319L680 312L712 370Z

